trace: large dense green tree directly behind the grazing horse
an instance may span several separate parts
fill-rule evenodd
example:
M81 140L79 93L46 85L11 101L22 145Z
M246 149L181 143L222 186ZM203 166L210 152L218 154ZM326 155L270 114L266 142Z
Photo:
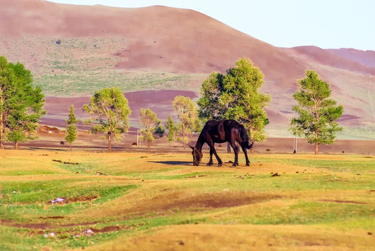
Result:
M264 127L269 123L264 107L270 102L270 96L258 92L263 78L259 68L246 58L237 61L225 75L212 73L201 87L199 118L235 119L245 126L252 141L262 142L266 138Z

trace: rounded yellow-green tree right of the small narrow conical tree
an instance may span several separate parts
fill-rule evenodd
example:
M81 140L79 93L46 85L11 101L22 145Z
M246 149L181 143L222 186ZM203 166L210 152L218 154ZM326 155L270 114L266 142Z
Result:
M91 118L87 122L98 124L91 128L94 134L103 134L108 140L108 150L112 151L112 139L121 139L128 132L130 108L128 100L118 87L96 91L90 103L82 107Z

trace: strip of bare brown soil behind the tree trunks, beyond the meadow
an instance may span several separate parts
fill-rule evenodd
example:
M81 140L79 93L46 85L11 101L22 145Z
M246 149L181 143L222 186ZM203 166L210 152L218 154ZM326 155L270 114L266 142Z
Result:
M63 133L40 133L39 138L31 142L20 143L23 149L56 149L69 150L69 144L64 141ZM197 136L193 137L192 145L195 144ZM293 138L267 138L265 142L255 143L254 153L293 153L295 139ZM147 152L146 142L141 142L140 145L133 145L137 143L137 131L130 130L128 134L121 140L121 142L114 142L112 144L113 151L134 151ZM218 152L226 153L227 144L216 144ZM6 143L7 149L12 149L13 145ZM74 151L107 151L107 140L101 139L99 135L89 135L81 132L76 142L72 144ZM158 139L151 142L151 152L167 153L167 152L190 152L190 148L183 149L183 144L173 142L169 144L167 139ZM204 146L204 152L208 154L208 146ZM374 155L375 141L374 140L353 140L353 139L337 139L333 145L324 145L319 147L319 152L322 154L361 154ZM305 139L298 139L297 154L298 153L314 153L314 146L307 144Z

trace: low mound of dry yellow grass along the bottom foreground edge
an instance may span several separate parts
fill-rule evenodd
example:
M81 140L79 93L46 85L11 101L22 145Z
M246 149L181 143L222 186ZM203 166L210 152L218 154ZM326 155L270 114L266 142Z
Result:
M373 250L366 231L320 225L178 225L124 236L86 250Z

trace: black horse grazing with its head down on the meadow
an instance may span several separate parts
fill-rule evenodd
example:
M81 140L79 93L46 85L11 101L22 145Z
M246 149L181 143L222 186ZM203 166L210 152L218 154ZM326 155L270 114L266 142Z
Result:
M229 142L231 147L234 149L234 163L232 167L238 166L238 146L236 142L240 144L243 153L245 153L246 165L250 165L250 160L247 158L246 149L251 149L254 142L249 144L249 137L247 137L246 129L243 125L234 120L224 120L224 121L208 121L204 126L201 134L198 137L197 144L195 146L190 146L192 148L193 165L199 165L202 154L202 146L207 143L210 146L210 161L207 165L213 165L212 155L215 154L218 166L222 166L222 160L215 151L215 143Z

